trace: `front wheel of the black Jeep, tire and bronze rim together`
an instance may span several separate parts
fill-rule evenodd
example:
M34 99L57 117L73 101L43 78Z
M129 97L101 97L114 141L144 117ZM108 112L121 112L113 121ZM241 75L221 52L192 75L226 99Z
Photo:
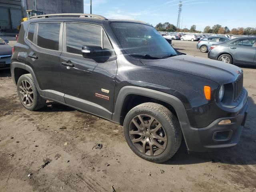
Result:
M124 119L124 137L136 155L162 163L172 158L180 148L182 132L178 119L170 110L148 102L128 112Z

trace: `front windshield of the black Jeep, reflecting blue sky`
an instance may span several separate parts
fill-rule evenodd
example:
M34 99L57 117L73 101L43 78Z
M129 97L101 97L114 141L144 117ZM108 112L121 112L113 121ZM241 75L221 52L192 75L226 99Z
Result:
M159 59L177 55L174 48L151 26L116 22L111 27L120 45L130 56Z

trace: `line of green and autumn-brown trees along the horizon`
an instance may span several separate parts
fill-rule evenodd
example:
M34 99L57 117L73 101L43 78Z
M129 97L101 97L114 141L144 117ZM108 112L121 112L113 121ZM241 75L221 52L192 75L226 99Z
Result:
M196 25L192 25L190 29L188 28L183 28L183 29L178 29L174 24L170 24L169 22L165 23L158 23L155 26L156 30L158 31L164 31L164 32L196 32L196 33L201 33L202 31L196 30ZM252 27L238 27L238 28L233 28L229 29L227 26L222 27L219 24L216 24L212 27L206 26L204 28L204 33L213 33L213 34L234 34L234 35L253 35L256 34L256 28Z

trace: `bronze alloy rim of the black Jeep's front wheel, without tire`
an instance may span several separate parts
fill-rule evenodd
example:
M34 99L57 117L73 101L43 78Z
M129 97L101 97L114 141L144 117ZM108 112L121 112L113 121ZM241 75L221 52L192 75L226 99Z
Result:
M129 127L130 139L143 154L156 156L167 146L167 134L162 124L149 115L138 115Z

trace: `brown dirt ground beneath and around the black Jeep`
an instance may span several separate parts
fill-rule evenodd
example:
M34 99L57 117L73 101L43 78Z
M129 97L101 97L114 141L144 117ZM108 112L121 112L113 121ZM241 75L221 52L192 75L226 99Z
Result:
M173 44L181 52L207 57L196 50L196 42ZM256 191L256 69L242 68L250 110L240 143L187 154L183 142L163 164L136 156L117 124L55 102L36 112L26 110L10 71L0 71L0 191ZM96 143L102 149L92 149Z

